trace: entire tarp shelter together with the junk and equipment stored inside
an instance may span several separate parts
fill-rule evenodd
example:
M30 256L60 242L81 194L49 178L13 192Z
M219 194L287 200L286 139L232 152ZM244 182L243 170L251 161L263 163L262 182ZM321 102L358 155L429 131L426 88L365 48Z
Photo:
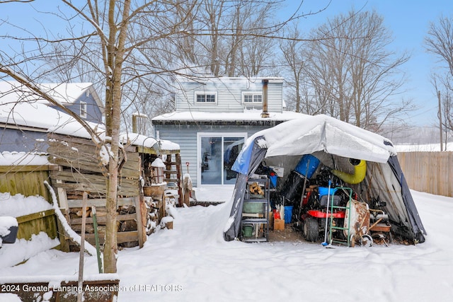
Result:
M307 115L250 137L232 168L225 240L268 240L282 221L326 246L425 240L396 151L378 134Z

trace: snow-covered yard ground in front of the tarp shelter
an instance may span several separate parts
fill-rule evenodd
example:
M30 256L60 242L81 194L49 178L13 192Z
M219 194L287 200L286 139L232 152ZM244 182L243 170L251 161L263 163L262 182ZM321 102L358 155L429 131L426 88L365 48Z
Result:
M326 249L304 241L225 242L232 190L197 190L199 200L227 202L177 209L173 230L152 234L142 249L121 250L117 273L128 290L118 301L451 301L453 198L413 191L425 243ZM78 266L78 253L47 250L2 267L0 279L76 277ZM86 256L84 269L96 274L96 257ZM0 301L15 298L0 294Z

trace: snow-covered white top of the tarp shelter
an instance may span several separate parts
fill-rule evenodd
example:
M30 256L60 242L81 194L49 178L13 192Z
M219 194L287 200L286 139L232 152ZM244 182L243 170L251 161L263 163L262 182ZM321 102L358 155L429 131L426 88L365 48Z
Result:
M389 139L327 115L301 115L297 120L253 134L258 144L268 149L266 157L303 155L326 151L338 156L386 163L396 150ZM245 147L244 147L245 149Z

